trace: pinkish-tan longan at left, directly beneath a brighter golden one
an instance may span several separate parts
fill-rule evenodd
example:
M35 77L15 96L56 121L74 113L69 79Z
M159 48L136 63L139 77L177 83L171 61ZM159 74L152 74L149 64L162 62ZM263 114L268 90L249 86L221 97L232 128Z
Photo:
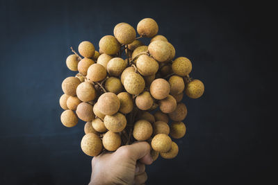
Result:
M82 121L92 121L92 119L95 118L92 105L85 102L79 103L76 108L76 114Z

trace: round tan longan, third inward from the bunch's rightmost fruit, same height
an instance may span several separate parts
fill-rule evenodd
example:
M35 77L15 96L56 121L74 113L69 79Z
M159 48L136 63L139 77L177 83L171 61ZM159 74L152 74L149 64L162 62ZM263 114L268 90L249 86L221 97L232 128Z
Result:
M163 78L158 78L152 82L149 91L156 100L162 100L169 95L170 85Z

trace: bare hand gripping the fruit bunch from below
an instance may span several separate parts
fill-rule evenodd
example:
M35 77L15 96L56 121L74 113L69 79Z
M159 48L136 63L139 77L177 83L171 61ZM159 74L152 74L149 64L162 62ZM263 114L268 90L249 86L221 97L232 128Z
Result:
M89 185L144 184L145 164L152 164L150 149L149 143L143 141L94 157Z

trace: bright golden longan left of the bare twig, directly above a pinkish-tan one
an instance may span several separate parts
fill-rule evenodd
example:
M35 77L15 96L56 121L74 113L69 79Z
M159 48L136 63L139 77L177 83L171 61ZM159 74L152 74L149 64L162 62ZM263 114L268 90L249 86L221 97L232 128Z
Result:
M89 102L95 100L97 92L90 82L82 82L76 88L76 96L83 102Z

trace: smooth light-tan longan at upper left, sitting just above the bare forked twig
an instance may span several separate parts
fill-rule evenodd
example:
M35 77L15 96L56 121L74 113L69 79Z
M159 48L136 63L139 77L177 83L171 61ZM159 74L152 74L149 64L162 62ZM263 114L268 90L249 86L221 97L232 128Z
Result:
M99 82L106 77L106 69L101 64L92 64L87 72L87 78L93 82Z

